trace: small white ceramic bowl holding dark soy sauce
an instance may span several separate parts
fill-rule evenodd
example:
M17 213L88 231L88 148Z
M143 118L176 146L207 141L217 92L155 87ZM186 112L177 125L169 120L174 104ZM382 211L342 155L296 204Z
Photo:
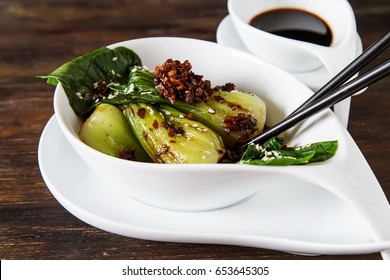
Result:
M309 72L325 66L333 77L355 58L358 35L355 15L347 0L229 0L227 6L246 47L259 58L289 72ZM281 8L298 9L320 17L331 29L331 45L325 47L274 35L249 24L260 13ZM301 19L290 24L305 28L312 23Z

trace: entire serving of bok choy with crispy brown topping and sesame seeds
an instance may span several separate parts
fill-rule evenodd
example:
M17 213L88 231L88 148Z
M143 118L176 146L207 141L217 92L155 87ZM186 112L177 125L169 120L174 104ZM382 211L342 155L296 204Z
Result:
M217 163L227 149L263 131L266 106L231 83L211 88L191 68L187 60L168 59L151 72L135 52L117 47L97 49L38 77L62 85L85 121L81 140L98 151L137 161ZM275 138L250 145L239 163L305 164L329 159L336 150L337 141L285 149Z

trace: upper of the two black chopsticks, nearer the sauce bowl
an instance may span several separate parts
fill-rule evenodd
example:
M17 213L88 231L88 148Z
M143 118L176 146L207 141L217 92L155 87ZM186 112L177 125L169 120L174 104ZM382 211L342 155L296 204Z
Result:
M355 74L357 74L363 67L369 62L381 54L390 46L390 32L384 34L381 38L371 44L363 53L361 53L355 60L353 60L347 67L340 71L335 77L321 87L316 93L314 93L309 99L307 99L302 105L300 105L291 115L302 110L308 106L311 102L325 96L328 92L336 89L344 84Z

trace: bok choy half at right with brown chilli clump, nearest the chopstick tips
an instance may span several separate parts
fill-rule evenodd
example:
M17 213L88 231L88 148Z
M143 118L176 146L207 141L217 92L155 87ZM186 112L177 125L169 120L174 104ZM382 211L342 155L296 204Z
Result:
M119 94L102 102L123 104L129 100L137 100L143 103L171 104L158 93L154 79L155 75L148 69L135 66L130 71L128 85L116 87ZM235 148L260 134L265 125L265 103L253 93L212 90L207 102L189 104L175 100L171 105L213 129L228 148Z

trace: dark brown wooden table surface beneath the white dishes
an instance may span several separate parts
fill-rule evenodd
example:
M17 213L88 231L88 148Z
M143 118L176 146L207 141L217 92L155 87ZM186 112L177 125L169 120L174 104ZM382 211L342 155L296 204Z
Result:
M351 0L367 47L389 30L387 0ZM47 189L38 141L53 114L46 74L108 44L149 36L216 41L224 0L0 1L0 259L380 259L304 257L273 250L141 240L92 227ZM380 60L384 60L383 54ZM390 79L352 101L349 132L390 198ZM389 221L390 222L390 221Z

